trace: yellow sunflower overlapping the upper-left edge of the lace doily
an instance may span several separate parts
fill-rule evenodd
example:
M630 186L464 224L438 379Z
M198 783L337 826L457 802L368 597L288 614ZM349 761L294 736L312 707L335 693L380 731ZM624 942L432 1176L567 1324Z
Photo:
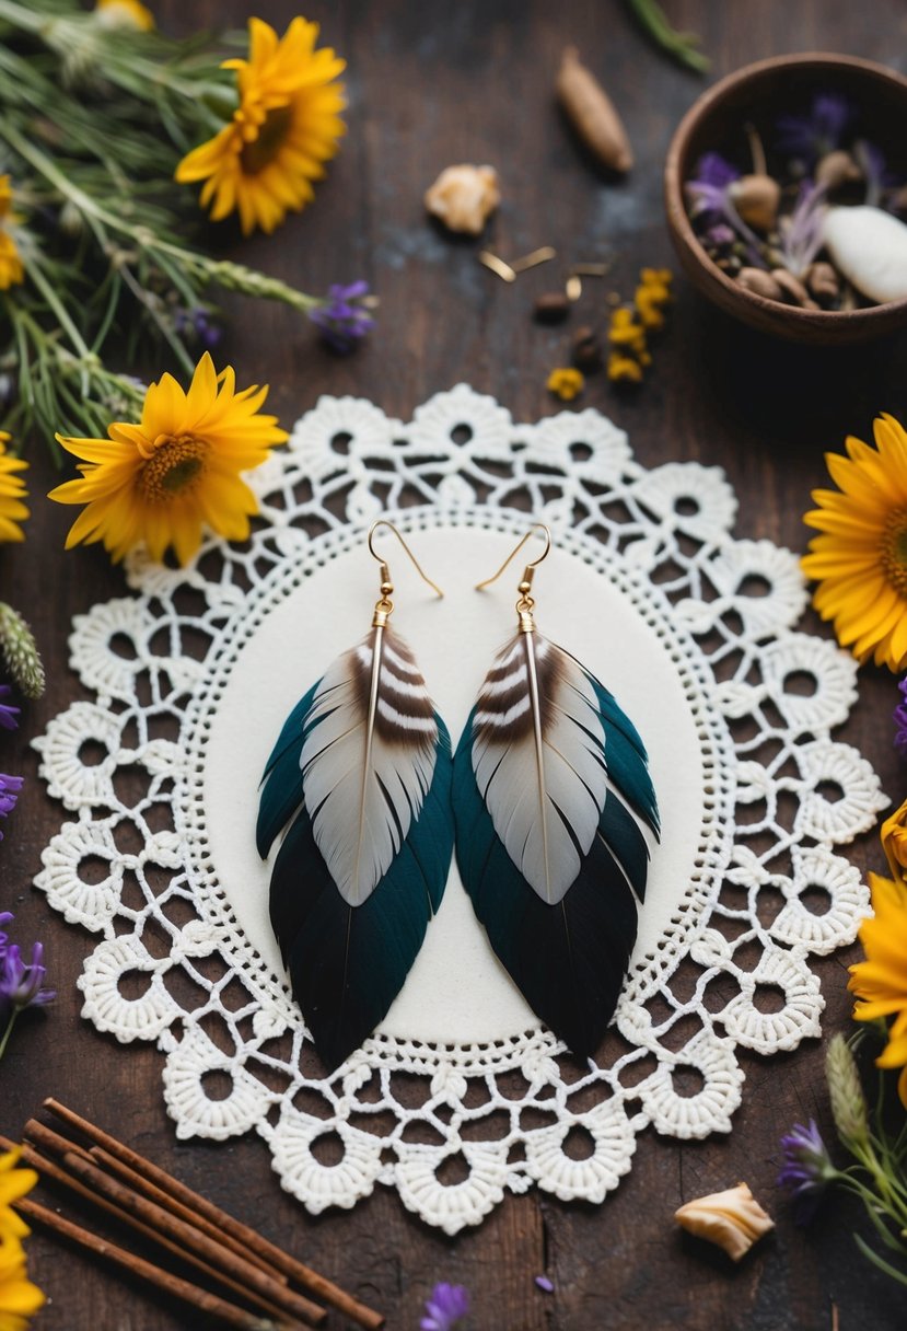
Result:
M66 550L102 540L114 559L140 542L161 560L173 546L180 563L198 550L202 527L227 540L249 536L258 502L239 473L262 463L283 443L277 417L259 415L267 387L235 390L231 369L217 374L207 351L188 393L165 374L145 395L140 425L117 422L109 439L57 435L68 453L82 458L81 480L51 491L59 503L86 504Z

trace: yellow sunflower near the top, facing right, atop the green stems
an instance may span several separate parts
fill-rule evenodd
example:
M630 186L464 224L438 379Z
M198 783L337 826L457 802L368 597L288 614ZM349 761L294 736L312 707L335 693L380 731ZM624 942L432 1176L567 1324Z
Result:
M261 19L249 20L249 60L226 60L237 71L239 105L229 125L193 149L177 180L203 180L201 205L219 221L239 209L243 234L273 232L290 209L313 198L311 182L346 132L346 68L330 47L315 51L318 24L294 19L283 37Z

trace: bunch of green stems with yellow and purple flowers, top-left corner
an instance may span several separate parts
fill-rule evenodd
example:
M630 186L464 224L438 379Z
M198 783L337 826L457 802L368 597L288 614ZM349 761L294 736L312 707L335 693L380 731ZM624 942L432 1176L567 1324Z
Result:
M249 234L311 201L344 132L344 64L317 41L305 19L173 40L138 0L0 0L0 410L17 439L138 411L124 371L161 347L193 371L218 289L283 301L340 349L368 329L364 284L314 297L205 249L205 210Z

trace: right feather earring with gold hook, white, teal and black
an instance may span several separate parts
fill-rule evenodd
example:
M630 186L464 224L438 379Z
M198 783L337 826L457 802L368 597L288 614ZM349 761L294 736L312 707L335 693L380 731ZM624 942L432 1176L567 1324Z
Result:
M594 675L543 638L532 575L454 756L456 858L492 948L533 1012L589 1057L636 941L658 809L642 740Z

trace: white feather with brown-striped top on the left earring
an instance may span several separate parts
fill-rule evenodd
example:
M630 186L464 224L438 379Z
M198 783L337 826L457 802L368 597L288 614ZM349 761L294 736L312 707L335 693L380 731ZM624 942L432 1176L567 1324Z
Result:
M383 636L378 630L376 663L366 642L330 667L315 693L299 757L315 844L340 896L352 906L362 905L387 873L435 772L434 720L426 725L420 717L404 717L382 697L387 685ZM371 677L368 707L362 705L352 671L356 658ZM396 654L394 659L399 668L406 664ZM427 696L424 684L422 695ZM375 729L379 709L392 713L408 743L382 739Z

